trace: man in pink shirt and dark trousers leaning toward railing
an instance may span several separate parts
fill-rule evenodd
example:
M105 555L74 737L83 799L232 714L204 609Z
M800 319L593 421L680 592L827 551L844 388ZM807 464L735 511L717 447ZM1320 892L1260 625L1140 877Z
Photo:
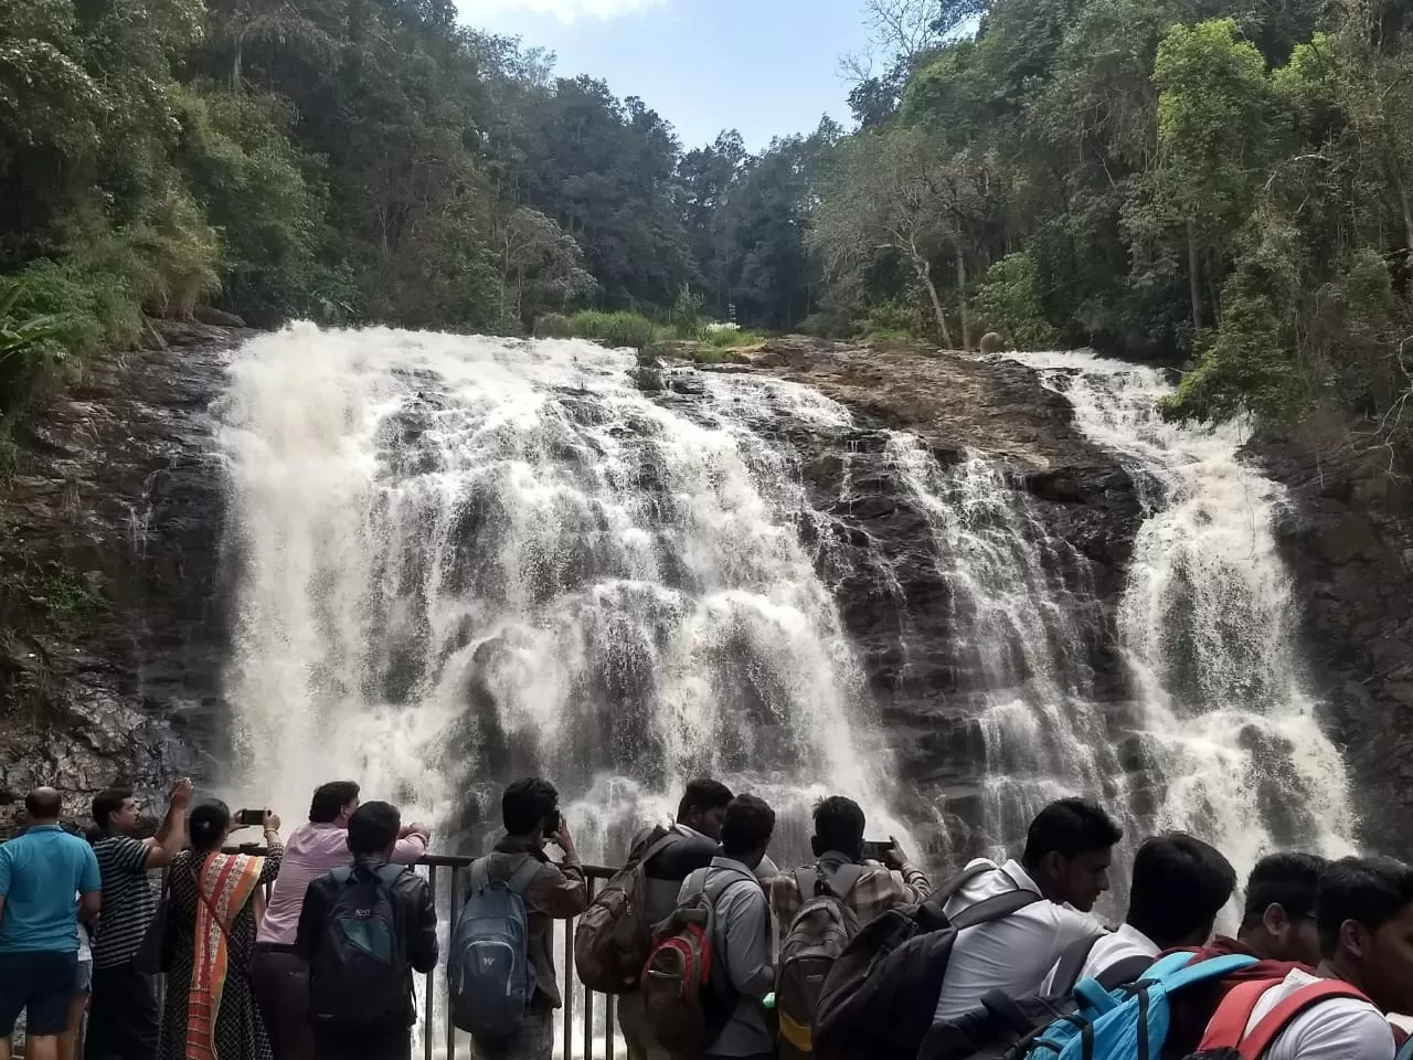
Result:
M295 951L294 938L309 883L332 869L353 864L348 828L349 814L357 810L357 793L359 787L352 780L333 780L315 789L309 823L295 828L284 845L280 876L260 921L250 978L270 1033L274 1060L314 1057L309 970ZM427 854L430 838L425 825L406 825L391 859L398 865L411 865Z

